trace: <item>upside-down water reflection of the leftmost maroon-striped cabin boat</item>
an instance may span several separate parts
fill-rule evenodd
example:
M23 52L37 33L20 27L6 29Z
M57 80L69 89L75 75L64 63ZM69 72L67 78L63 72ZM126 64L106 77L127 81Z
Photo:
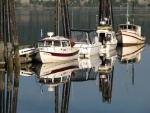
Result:
M53 91L55 86L68 82L76 69L78 69L77 60L35 65L39 83L47 85L48 91Z

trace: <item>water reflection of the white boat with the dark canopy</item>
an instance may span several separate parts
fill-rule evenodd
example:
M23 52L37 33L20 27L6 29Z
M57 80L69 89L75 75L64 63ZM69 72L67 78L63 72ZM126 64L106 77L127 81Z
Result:
M79 69L74 71L71 81L95 80L98 74L98 67L101 64L99 55L90 58L79 58Z

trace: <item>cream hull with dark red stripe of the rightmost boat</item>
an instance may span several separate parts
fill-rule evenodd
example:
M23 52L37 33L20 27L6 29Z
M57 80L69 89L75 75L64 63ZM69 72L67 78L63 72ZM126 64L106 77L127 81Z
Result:
M136 32L131 30L120 30L116 36L118 43L123 45L137 45L145 43L145 37L139 36Z

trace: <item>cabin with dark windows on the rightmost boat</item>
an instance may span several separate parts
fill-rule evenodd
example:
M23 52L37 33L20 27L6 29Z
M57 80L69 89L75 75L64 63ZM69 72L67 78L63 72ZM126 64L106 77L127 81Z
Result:
M120 24L119 25L119 30L125 30L125 29L135 31L138 35L141 36L141 26L134 25L134 24Z

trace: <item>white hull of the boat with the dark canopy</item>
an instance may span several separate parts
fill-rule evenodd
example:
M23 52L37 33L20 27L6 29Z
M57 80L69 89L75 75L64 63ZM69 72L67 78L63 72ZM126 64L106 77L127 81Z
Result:
M75 49L79 49L79 54L82 57L84 55L85 57L90 57L91 55L98 55L99 49L101 44L83 44L83 43L76 43L74 45Z

